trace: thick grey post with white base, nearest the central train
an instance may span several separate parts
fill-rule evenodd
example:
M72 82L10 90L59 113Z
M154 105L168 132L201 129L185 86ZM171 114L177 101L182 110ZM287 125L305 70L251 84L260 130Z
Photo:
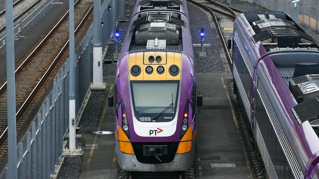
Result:
M94 0L93 14L93 86L92 88L105 89L103 84L102 63L102 26L101 26L101 1Z

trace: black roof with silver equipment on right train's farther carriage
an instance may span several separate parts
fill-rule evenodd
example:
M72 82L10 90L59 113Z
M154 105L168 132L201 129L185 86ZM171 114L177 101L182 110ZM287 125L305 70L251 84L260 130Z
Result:
M254 44L261 42L267 52L319 48L315 40L285 13L256 11L246 12L244 16L255 32L251 40Z

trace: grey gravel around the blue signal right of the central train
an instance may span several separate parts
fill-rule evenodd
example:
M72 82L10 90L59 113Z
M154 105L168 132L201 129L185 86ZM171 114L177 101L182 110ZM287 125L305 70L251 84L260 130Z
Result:
M200 52L200 47L194 47L195 58L195 71L199 73L205 72L230 72L225 57L225 52L222 49L220 39L218 37L216 28L213 24L211 26L207 15L197 7L194 7L190 3L188 6L188 17L190 24L190 33L192 36L193 44L200 44L200 28L203 27L205 31L205 44L211 44L210 47L206 47L204 51L207 52L206 57L199 57L197 54Z

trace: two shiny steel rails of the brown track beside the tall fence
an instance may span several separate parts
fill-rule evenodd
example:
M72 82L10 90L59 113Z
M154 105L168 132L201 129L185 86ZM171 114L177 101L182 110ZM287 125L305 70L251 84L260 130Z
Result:
M75 2L75 5L77 5L77 3L80 0L77 0ZM78 33L78 31L80 30L80 28L82 27L82 25L84 24L85 20L89 17L90 13L93 10L93 5L90 7L90 9L88 10L88 12L85 14L84 18L81 20L80 24L78 25L78 27L75 29L75 33ZM59 22L53 27L53 29L48 33L48 35L41 41L41 43L31 52L31 54L27 57L27 59L23 62L23 64L21 64L19 66L19 68L16 70L19 71L21 69L21 67L23 67L27 60L30 59L30 57L37 51L37 49L39 49L40 46L42 46L44 44L44 42L48 39L48 37L53 33L53 31L63 22L63 20L68 16L69 11L67 11L64 16L59 20ZM38 81L37 85L34 87L34 89L31 91L31 93L28 95L27 99L25 100L25 102L22 104L22 106L20 107L20 109L18 110L18 112L16 113L16 116L18 116L22 111L23 108L26 107L27 103L30 101L31 97L35 94L35 92L38 90L38 88L40 87L40 84L42 84L44 82L44 80L46 79L47 75L52 71L52 69L54 68L54 65L56 64L56 62L58 61L58 59L63 55L63 52L67 49L69 45L69 40L65 43L65 45L62 47L62 49L59 51L59 53L57 54L57 56L54 58L53 62L51 63L50 67L48 67L48 69L46 70L46 72L43 74L43 76L41 77L41 79ZM6 84L6 83L5 83ZM4 84L4 85L5 85ZM1 89L3 90L4 85L2 85ZM1 90L0 89L0 90ZM4 135L7 133L8 131L8 127L5 128L5 130L2 132L2 134L0 135L0 141L2 141Z

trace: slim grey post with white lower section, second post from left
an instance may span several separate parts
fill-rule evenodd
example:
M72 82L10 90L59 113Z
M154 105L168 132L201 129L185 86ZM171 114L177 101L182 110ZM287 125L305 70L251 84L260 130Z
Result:
M75 149L74 0L69 0L69 149Z

